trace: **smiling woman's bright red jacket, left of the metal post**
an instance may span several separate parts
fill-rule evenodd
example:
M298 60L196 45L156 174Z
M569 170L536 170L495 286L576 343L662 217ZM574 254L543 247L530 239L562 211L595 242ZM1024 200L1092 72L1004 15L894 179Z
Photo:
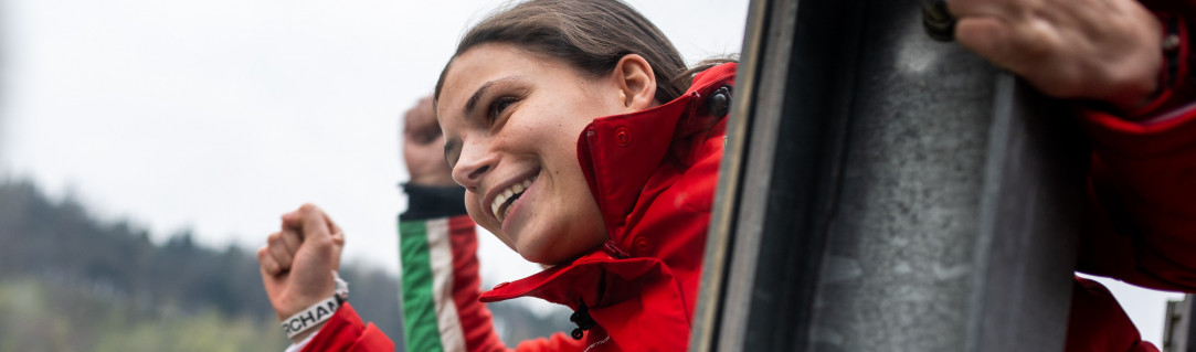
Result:
M672 101L640 112L597 118L582 131L578 140L578 160L604 215L610 240L570 264L500 284L482 294L481 301L539 297L586 311L580 326L587 329L581 340L559 333L549 339L525 341L518 350L685 348L726 125L722 116L708 111L708 98L716 92L730 98L734 74L734 63L710 68L697 74L691 88ZM459 328L439 328L441 334L452 336L440 344L440 348L505 350L493 332L489 311L472 298L478 292L472 223L465 217L454 217L447 226L434 227L447 228L441 235L451 239L453 260L452 283L447 285L451 288L443 289L453 291L451 298L443 299L451 301L453 307L438 307L434 314L443 316L452 310L448 325L460 325ZM428 236L428 241L435 239ZM404 271L407 268L404 259ZM438 320L432 325L444 325L444 319ZM366 331L360 325L352 310L342 309L304 351L325 351L311 346L348 347L385 339L377 329ZM411 338L415 336L409 333L408 339Z

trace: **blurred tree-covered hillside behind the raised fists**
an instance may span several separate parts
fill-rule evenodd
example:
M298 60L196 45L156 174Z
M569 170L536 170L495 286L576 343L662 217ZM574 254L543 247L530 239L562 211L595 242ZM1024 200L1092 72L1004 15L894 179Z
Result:
M33 184L0 184L0 352L282 351L288 340L251 251L154 243L128 221L93 218ZM354 307L402 346L397 278L346 266ZM492 304L504 340L568 327L517 303ZM401 348L401 347L399 347Z

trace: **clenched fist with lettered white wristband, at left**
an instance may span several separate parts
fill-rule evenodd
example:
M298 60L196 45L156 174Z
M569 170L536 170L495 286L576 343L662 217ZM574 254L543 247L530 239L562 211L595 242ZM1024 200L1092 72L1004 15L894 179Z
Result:
M316 205L304 204L282 215L281 230L270 234L267 245L257 249L266 295L280 321L332 297L332 271L341 266L343 247L344 234ZM293 340L301 341L321 326Z

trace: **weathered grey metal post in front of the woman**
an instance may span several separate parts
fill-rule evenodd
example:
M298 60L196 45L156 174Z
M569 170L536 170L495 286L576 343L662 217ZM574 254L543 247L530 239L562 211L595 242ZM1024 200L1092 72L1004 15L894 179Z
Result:
M917 0L765 2L733 235L712 227L720 323L691 347L1061 351L1087 161L1067 112L928 38Z

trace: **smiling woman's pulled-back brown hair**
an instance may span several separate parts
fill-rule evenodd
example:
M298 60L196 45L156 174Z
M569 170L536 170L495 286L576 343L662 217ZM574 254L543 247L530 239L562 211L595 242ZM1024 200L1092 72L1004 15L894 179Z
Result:
M578 72L600 76L629 54L643 56L657 78L655 99L667 103L692 82L681 53L647 18L618 0L531 0L499 11L469 30L453 58L486 43L514 45L567 62ZM440 72L435 99L445 73Z

